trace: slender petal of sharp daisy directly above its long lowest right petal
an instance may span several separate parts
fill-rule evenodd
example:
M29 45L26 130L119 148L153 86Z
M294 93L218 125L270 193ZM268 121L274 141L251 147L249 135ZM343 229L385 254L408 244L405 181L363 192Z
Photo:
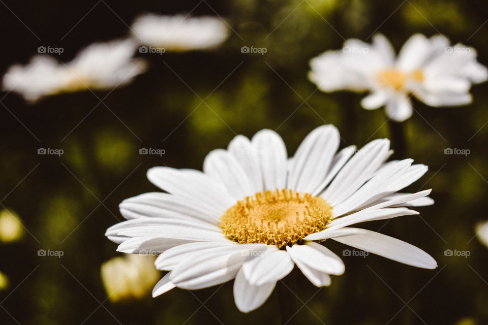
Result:
M385 208L385 209L378 209L378 210L361 210L359 212L332 220L328 224L327 229L318 233L310 234L303 239L305 240L327 239L327 238L331 238L330 234L335 232L335 230L346 227L351 224L356 224L356 223L366 222L366 221L390 219L394 217L413 215L413 214L418 214L418 212L407 208Z

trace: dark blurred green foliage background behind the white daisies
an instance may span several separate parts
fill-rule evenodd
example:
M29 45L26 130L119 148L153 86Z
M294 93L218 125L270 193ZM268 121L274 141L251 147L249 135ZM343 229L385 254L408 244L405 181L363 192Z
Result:
M276 293L242 314L232 282L173 289L157 299L107 301L100 265L120 255L104 237L122 219L118 203L157 190L146 180L148 168L201 169L205 154L225 148L236 134L276 129L290 155L324 123L339 128L341 147L390 137L381 109L359 107L361 94L323 93L307 80L309 59L340 48L344 39L370 42L377 30L398 51L415 32L441 32L474 46L488 64L488 7L481 1L6 1L0 11L2 74L15 62L25 64L39 46L63 47L58 58L68 61L90 43L124 37L126 24L146 12L217 12L235 30L215 51L138 53L150 63L147 73L111 92L63 94L31 106L14 93L1 94L0 199L30 232L16 244L0 244L0 271L10 280L0 291L2 324L14 318L38 325L279 324ZM242 46L267 52L241 53ZM397 158L430 167L408 190L433 188L436 204L418 208L420 216L364 224L421 247L439 268L416 269L372 254L342 256L346 246L327 243L343 257L346 272L320 289L298 275L296 317L303 323L488 321L488 249L473 239L475 223L488 218L487 91L488 83L475 85L474 102L466 107L414 101L416 112L404 123L408 148ZM41 147L65 153L38 155ZM166 153L140 155L143 147ZM445 155L446 148L470 154ZM38 256L39 249L64 256ZM446 249L470 256L445 256Z

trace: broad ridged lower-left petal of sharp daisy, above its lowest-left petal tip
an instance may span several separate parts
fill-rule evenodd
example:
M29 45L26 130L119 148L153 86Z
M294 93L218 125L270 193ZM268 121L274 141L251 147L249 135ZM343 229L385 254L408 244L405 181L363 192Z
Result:
M186 259L171 271L171 281L180 288L190 290L227 282L235 277L250 252L265 250L266 246L239 244L234 246L234 251L209 252Z

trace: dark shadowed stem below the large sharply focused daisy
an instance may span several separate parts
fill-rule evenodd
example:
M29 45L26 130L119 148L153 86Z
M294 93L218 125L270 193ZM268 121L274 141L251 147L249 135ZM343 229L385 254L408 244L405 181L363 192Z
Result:
M278 295L278 305L280 306L280 316L282 325L296 325L296 281L295 272L290 272L288 276L276 283L276 293Z

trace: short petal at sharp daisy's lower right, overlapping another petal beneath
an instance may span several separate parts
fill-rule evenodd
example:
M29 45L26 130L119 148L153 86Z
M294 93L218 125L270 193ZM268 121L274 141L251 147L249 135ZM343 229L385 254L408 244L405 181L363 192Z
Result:
M341 275L344 273L345 267L341 258L315 242L306 242L305 245L295 244L290 248L287 247L287 251L295 263L300 261L312 269L327 274Z

